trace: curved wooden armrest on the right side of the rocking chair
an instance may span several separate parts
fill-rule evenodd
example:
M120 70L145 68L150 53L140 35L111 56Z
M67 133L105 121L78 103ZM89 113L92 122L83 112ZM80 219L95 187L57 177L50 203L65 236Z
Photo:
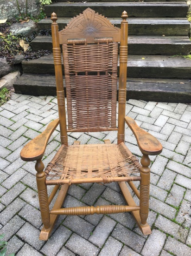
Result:
M162 152L162 145L153 135L141 129L131 117L126 116L125 121L134 133L142 154L159 155Z

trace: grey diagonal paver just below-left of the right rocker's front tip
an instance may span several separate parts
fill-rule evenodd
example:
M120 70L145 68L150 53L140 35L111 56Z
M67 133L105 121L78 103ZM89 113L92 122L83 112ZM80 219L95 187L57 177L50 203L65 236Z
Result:
M145 243L145 238L135 234L133 231L123 227L121 224L117 224L112 236L122 243L134 249L136 252L140 252Z

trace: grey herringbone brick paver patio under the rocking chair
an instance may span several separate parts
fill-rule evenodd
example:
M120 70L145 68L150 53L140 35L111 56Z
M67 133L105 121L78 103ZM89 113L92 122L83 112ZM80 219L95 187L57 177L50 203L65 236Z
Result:
M34 162L23 162L19 153L57 118L57 99L13 94L0 107L0 234L5 234L8 241L7 253L17 252L18 256L191 255L191 105L129 100L126 114L156 136L164 147L160 155L151 156L148 223L152 235L143 236L129 213L59 216L51 238L45 242L38 240L42 222ZM76 139L88 144L104 143L104 139L116 142L116 137L115 132L71 133L69 142ZM127 127L125 139L128 148L140 158L134 135ZM45 164L59 145L57 129L47 146ZM64 206L118 202L124 203L115 184L95 183L72 185Z

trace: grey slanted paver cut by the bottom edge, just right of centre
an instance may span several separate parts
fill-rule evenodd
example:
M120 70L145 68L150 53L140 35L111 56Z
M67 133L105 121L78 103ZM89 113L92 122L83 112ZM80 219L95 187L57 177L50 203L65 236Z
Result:
M109 236L99 256L118 256L122 246L122 243L114 239L112 236Z

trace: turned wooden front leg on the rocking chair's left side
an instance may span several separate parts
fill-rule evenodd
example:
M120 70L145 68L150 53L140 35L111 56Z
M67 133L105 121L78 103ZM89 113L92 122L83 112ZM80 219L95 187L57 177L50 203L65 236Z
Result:
M50 213L49 213L49 203L48 203L48 194L47 187L45 184L45 172L43 171L45 168L42 160L37 160L35 164L35 169L37 171L36 179L37 179L37 188L38 188L38 199L40 204L40 213L42 217L42 222L44 224L45 229L49 229L50 227Z

